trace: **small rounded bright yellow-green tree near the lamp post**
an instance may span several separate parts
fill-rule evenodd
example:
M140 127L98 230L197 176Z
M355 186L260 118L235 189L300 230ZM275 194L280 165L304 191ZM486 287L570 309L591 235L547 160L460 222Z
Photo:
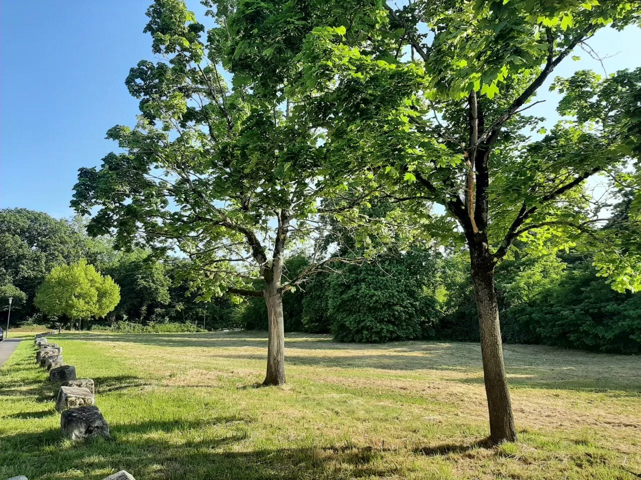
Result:
M53 316L76 320L104 317L120 301L120 287L87 260L54 268L38 289L35 304Z

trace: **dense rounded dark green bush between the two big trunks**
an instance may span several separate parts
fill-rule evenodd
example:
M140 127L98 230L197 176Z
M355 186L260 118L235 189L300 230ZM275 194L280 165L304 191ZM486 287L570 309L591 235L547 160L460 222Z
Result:
M405 253L374 264L349 265L329 289L332 332L342 342L388 342L429 337L437 320L430 292L435 262Z

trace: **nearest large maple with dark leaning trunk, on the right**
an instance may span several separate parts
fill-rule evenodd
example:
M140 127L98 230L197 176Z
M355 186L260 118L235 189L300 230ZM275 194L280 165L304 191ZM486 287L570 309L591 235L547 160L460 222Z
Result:
M560 62L604 26L638 22L624 0L246 1L237 62L289 76L326 135L328 171L387 187L408 223L465 244L479 316L492 442L514 440L494 269L517 239L535 253L588 243L617 289L641 287L637 248L605 237L586 180L634 184L641 70L558 81L568 115L551 131L526 115ZM293 67L279 60L294 51ZM294 77L287 68L297 72ZM533 140L528 130L544 134ZM638 183L637 183L638 184ZM624 255L625 253L625 255Z

